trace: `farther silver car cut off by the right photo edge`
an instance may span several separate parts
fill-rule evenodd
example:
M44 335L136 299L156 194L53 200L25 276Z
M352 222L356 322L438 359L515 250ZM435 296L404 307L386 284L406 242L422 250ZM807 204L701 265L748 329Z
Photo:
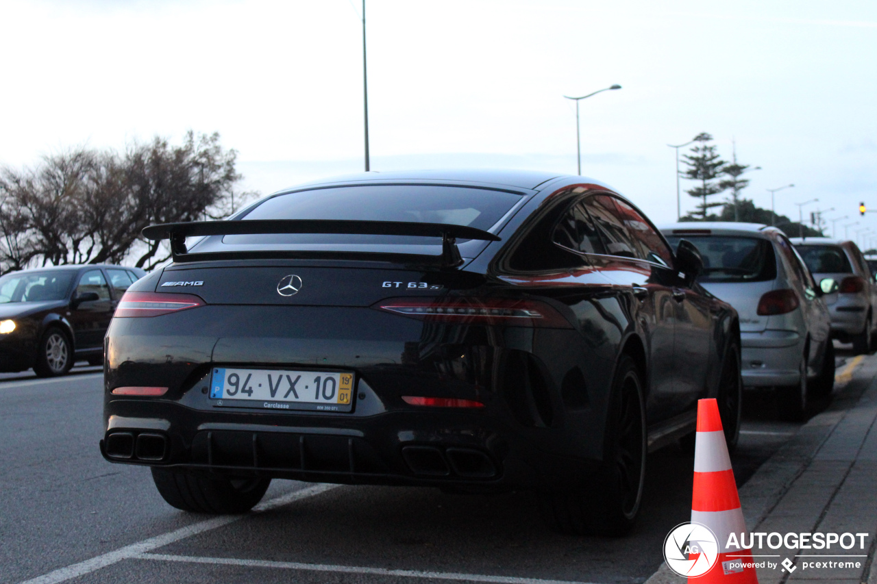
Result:
M791 240L814 277L838 281L838 295L826 298L831 335L852 343L856 353L870 353L877 304L877 282L859 247L852 241L828 238Z

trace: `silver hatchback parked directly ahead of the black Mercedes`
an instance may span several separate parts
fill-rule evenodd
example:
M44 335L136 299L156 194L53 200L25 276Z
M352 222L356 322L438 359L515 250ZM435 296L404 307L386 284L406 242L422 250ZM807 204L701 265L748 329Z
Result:
M737 309L745 388L777 388L783 413L800 418L811 395L834 387L834 346L825 296L785 234L747 223L677 223L661 232L688 239L703 257L698 282ZM836 296L836 295L834 295Z

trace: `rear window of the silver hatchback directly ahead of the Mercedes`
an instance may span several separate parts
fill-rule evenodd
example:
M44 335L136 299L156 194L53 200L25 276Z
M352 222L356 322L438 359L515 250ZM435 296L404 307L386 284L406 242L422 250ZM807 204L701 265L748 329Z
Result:
M767 281L776 278L774 246L766 239L722 235L668 235L671 246L688 239L703 257L700 281Z

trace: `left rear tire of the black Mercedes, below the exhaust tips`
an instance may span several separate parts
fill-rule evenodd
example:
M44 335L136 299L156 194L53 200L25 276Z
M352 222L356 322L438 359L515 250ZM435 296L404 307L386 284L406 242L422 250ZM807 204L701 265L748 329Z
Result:
M229 479L153 466L161 497L177 509L193 513L246 513L265 496L271 479Z

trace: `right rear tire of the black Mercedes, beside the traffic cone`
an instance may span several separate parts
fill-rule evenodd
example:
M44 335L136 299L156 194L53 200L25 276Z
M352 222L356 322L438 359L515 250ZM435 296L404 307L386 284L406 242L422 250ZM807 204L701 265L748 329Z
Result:
M637 364L624 355L612 384L603 462L590 484L542 496L554 531L571 535L621 536L631 530L645 483L645 407Z

